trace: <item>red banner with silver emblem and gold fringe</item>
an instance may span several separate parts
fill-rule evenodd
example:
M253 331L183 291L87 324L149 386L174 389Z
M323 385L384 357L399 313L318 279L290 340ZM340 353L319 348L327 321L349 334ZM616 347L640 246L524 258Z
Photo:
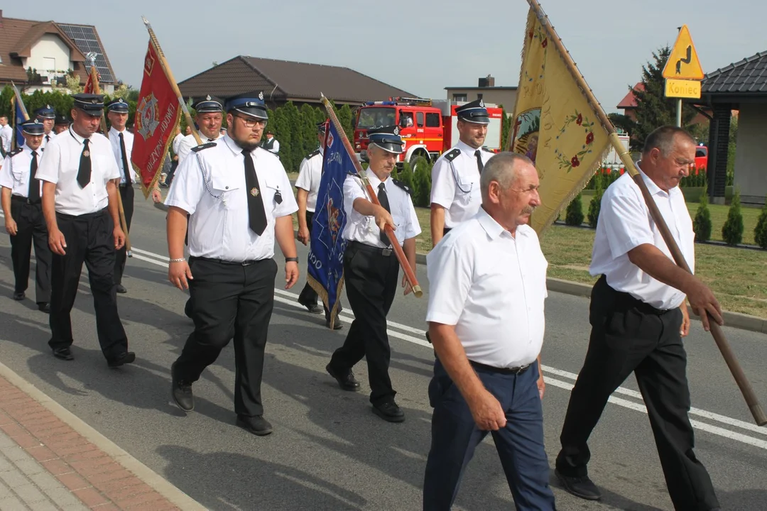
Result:
M141 176L144 197L149 196L160 176L180 115L176 93L150 41L144 58L144 74L134 121L133 153L130 156L133 168Z

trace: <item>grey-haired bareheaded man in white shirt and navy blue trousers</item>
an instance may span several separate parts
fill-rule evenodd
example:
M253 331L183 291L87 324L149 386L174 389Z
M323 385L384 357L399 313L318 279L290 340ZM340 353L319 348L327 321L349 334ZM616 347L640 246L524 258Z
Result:
M525 156L502 152L485 165L480 188L479 212L426 258L437 359L423 509L450 509L488 432L516 508L555 509L541 406L548 263L527 225L541 201L538 172Z

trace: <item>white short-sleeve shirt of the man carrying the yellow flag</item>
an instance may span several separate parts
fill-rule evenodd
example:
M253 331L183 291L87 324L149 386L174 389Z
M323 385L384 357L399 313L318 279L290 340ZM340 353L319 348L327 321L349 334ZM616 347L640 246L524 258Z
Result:
M644 172L641 175L687 264L694 271L695 231L684 195L678 186L668 193L663 192ZM602 196L591 254L591 275L604 274L607 284L614 290L629 293L656 309L670 310L680 306L684 293L650 277L629 260L628 252L641 244L654 245L672 259L666 242L650 217L642 192L627 172Z

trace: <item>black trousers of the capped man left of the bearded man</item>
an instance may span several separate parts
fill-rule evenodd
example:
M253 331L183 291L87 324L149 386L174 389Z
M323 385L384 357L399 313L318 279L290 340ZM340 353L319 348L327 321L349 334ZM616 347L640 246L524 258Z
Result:
M96 310L96 329L101 352L114 359L127 352L128 339L117 313L114 285L114 223L106 209L88 215L56 214L59 231L67 241L67 253L53 254L51 267L51 348L71 346L70 312L80 285L83 263L88 269Z

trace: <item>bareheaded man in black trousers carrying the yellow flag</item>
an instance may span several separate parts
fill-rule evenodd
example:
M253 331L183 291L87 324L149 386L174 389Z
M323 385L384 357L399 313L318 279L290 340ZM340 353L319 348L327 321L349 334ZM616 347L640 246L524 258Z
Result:
M663 126L647 136L637 165L693 270L695 233L679 183L694 161L693 137ZM711 478L693 451L682 337L690 329L685 296L706 329L706 312L721 324L721 310L700 279L674 264L640 188L628 174L602 198L591 275L601 275L591 291L591 339L562 426L557 476L575 496L601 497L588 477L588 437L607 399L634 372L674 508L719 509Z

